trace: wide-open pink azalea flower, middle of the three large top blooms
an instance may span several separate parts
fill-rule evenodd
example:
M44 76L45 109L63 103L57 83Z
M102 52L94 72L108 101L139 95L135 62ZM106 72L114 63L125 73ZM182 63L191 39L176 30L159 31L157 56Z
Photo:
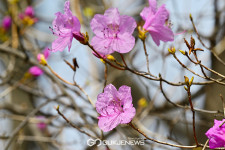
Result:
M96 34L91 45L103 55L113 52L127 53L132 50L132 36L137 24L132 17L120 15L117 8L110 8L104 15L97 14L91 20L91 29Z

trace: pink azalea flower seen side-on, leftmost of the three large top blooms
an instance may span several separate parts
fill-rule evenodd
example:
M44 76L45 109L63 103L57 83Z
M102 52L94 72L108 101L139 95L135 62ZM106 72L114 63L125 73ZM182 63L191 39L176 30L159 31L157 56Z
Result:
M80 22L77 17L72 15L70 2L66 1L64 5L64 14L57 12L55 20L52 22L52 32L58 38L52 43L52 51L63 51L67 46L70 51L73 37L79 41L84 39L80 33Z

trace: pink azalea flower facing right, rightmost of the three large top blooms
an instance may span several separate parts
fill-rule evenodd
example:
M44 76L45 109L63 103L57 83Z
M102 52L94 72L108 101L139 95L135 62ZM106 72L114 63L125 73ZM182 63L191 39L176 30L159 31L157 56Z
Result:
M165 4L157 10L156 0L149 0L149 7L145 7L140 15L145 21L143 28L151 34L157 46L160 45L160 40L164 42L174 40L173 31L165 25L169 18Z

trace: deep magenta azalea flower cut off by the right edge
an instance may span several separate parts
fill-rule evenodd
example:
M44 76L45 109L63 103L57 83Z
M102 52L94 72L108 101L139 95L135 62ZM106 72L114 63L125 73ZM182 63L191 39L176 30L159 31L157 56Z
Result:
M210 128L205 135L209 138L209 147L211 149L225 147L225 124L220 125L225 121L214 120L214 126Z

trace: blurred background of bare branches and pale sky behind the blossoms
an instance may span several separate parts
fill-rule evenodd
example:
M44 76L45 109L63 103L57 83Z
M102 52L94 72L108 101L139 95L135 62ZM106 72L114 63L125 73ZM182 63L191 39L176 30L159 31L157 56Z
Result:
M159 73L172 83L184 81L184 76L194 76L191 87L195 108L208 111L196 111L196 131L200 143L205 143L205 132L213 125L213 120L222 119L223 103L220 94L225 96L224 85L205 83L190 71L184 69L168 53L168 48L177 49L177 57L188 68L203 74L200 67L179 53L179 49L188 51L184 38L195 39L195 47L204 49L198 58L205 66L225 74L225 1L224 0L158 0L158 7L166 4L170 12L168 23L175 34L173 42L161 42L158 47L148 34L146 39L149 54L150 71ZM70 52L50 52L48 64L67 81L76 83L71 86L61 82L48 68L41 66L36 56L47 48L56 38L49 27L56 12L64 9L64 0L0 0L0 149L9 150L83 150L83 149L181 149L146 141L144 145L87 145L89 136L66 123L56 111L61 112L77 128L106 140L127 140L143 138L127 125L119 125L114 130L102 133L97 125L97 112L89 103L88 97L95 103L97 95L103 91L105 72L107 84L117 88L128 85L132 89L133 104L137 110L134 124L149 137L180 145L193 145L192 112L190 109L171 105L162 93L159 81L153 81L104 65L95 57L91 49L73 40ZM147 0L70 0L70 8L81 22L81 32L94 36L90 21L95 14L104 14L111 7L119 9L121 15L135 18L143 25L140 12L148 6ZM33 13L27 12L32 8ZM192 14L199 37L189 19ZM7 24L8 18L8 24ZM11 23L10 19L11 18ZM185 31L185 32L184 32ZM136 45L124 54L127 65L133 70L147 72L143 44L134 36ZM214 53L214 55L213 55ZM122 63L120 55L114 53L116 60ZM219 58L216 58L218 56ZM190 55L194 58L193 55ZM76 58L79 68L74 72L64 60L72 64ZM219 60L218 60L219 59ZM35 76L30 68L38 66L44 73ZM218 76L206 71L207 76ZM203 84L204 82L204 84ZM188 106L188 95L183 86L174 86L162 82L167 97L174 103ZM88 95L88 97L87 97Z

